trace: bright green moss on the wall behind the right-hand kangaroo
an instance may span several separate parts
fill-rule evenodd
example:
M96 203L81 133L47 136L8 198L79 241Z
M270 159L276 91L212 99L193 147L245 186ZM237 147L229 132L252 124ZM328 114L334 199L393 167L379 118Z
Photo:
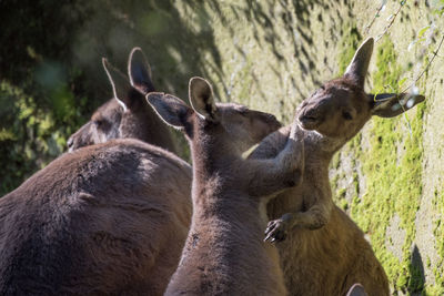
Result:
M396 91L401 67L389 38L382 40L375 55L377 71L373 79L373 91ZM370 234L375 254L394 290L403 293L417 292L424 286L421 272L411 264L411 246L415 237L414 220L422 194L421 143L424 109L424 104L420 105L411 119L411 135L402 129L406 124L402 116L373 120L374 127L370 132L371 150L365 153L362 162L366 192L361 200L354 198L351 206L353 220ZM349 144L356 156L362 154L360 142L361 137L356 136ZM406 233L401 262L385 246L386 228L395 214L401 217L400 227Z

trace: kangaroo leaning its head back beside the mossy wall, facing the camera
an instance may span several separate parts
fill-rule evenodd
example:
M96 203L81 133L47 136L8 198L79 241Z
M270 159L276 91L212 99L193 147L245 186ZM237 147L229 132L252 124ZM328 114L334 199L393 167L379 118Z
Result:
M367 39L345 74L326 82L297 111L305 130L304 177L268 205L266 239L278 244L291 295L345 295L361 283L369 295L389 295L386 275L362 231L332 201L329 163L372 115L395 116L422 95L366 94L364 80L373 51ZM291 126L269 135L250 155L270 159L285 146Z

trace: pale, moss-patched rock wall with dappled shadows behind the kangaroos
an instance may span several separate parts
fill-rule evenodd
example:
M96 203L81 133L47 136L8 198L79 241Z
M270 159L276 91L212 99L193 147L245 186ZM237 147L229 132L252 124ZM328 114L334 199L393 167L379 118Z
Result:
M335 156L335 202L367 234L394 293L444 294L444 45L426 69L444 33L443 0L90 2L79 1L90 14L70 45L93 83L108 89L101 55L123 65L140 45L159 90L186 98L186 81L201 75L219 100L283 123L345 70L363 39L376 38L367 91L415 83L426 101L405 116L373 119Z

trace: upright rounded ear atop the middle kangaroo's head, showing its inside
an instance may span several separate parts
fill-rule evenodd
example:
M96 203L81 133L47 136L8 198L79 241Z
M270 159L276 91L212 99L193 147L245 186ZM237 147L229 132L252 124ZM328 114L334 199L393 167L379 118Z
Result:
M211 84L203 78L192 78L189 84L190 103L202 119L218 122L218 108L213 99Z

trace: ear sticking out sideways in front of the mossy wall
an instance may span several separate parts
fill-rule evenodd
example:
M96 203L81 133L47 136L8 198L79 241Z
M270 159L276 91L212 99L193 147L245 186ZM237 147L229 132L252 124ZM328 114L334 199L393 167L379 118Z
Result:
M369 94L369 99L373 103L373 115L380 118L394 118L425 100L424 95L408 93Z

